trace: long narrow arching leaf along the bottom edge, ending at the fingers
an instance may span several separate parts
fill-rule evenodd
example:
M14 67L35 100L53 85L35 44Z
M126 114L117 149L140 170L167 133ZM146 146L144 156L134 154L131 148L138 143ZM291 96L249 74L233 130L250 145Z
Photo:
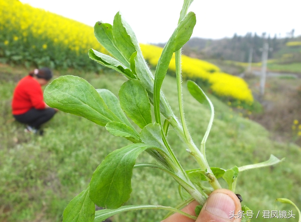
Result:
M103 209L103 210L100 210L100 211L96 211L94 222L104 221L105 219L107 219L107 218L109 218L109 217L111 217L115 214L124 212L124 211L134 211L134 210L143 210L143 209L168 210L168 211L173 211L173 212L183 214L186 217L189 217L193 220L197 219L197 217L194 217L190 214L187 214L183 211L180 211L180 210L172 208L172 207L164 207L164 206L157 206L157 205L129 205L129 206L120 207L118 209L113 209L113 210L112 209Z

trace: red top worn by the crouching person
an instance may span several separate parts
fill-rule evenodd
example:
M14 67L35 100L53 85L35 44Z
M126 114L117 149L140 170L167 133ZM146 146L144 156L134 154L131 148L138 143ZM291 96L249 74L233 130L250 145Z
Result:
M45 109L39 82L29 75L21 79L15 88L11 105L14 115L24 114L31 108Z

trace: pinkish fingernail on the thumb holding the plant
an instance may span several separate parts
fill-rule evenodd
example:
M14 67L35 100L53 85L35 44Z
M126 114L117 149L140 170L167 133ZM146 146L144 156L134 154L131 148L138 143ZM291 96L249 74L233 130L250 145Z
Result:
M235 212L235 203L227 194L213 193L208 197L206 209L216 216L229 218L230 211Z

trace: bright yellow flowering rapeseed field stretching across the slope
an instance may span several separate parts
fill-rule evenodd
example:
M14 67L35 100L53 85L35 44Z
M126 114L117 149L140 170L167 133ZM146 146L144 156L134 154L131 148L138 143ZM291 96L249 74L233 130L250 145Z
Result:
M140 46L145 59L155 67L162 48ZM90 48L107 53L94 37L93 27L17 0L0 1L0 61L95 69L97 64L87 55ZM174 57L169 70L175 71ZM207 81L216 95L253 102L243 79L221 73L219 67L209 62L183 55L182 73L184 79Z

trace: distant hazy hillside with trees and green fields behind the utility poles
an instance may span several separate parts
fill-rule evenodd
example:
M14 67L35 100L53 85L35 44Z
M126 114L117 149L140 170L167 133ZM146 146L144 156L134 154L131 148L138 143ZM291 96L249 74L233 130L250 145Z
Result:
M248 66L250 48L253 48L252 67L261 67L263 43L268 42L268 71L301 73L301 36L277 39L251 35L224 39L191 38L183 53L192 58L204 59L219 66L222 71L240 74Z

